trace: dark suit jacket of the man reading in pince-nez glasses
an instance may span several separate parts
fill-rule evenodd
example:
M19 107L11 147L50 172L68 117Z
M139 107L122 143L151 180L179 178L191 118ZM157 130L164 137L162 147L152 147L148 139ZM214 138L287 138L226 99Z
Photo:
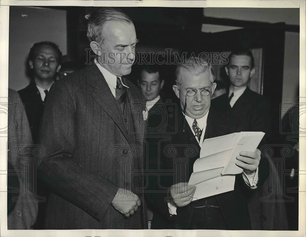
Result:
M200 156L200 146L196 138L187 121L185 133L182 131L183 123L184 117L179 110L172 120L168 119L164 133L147 137L149 175L145 191L148 203L154 208L152 228L155 229L189 229L194 205L197 203L191 202L184 207L178 207L177 215L170 217L166 201L167 192L175 183L188 182L193 171L193 163ZM235 132L237 128L233 124L235 123L231 123L225 116L209 111L204 138ZM268 175L267 160L261 160L260 166L258 185ZM181 170L176 171L177 167L181 167ZM250 191L252 190L245 184L242 174L238 174L233 191L212 196L216 197L219 203L227 229L251 229L245 201L245 196Z

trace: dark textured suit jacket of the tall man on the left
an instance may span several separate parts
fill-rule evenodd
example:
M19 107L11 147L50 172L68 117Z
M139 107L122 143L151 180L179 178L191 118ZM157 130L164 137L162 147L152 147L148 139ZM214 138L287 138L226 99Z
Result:
M96 65L50 88L39 135L46 151L38 158L38 175L52 190L46 229L146 227L140 189L144 134L139 126L142 113L140 117L136 111L142 95L131 82L123 82L129 86L125 118ZM129 218L111 205L119 187L142 201Z

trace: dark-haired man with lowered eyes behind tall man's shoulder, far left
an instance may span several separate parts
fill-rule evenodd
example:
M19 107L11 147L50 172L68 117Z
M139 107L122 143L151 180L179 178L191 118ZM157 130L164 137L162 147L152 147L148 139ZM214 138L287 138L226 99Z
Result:
M52 42L35 43L29 53L30 84L18 91L29 120L34 144L37 143L46 95L61 69L62 52Z

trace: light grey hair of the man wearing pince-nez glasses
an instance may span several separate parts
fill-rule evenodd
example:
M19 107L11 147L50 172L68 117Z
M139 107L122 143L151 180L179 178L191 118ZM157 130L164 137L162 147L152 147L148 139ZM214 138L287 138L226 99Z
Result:
M213 83L215 80L215 73L212 69L211 64L208 63L206 60L201 59L199 57L186 58L177 65L176 71L175 71L175 76L176 76L175 82L178 86L181 86L182 84L181 73L183 70L188 71L195 76L198 76L201 73L204 73L208 70L211 83Z

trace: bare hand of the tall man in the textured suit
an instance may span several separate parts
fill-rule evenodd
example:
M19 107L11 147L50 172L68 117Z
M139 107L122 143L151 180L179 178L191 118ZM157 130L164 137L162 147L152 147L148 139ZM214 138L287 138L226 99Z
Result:
M123 215L129 217L137 211L141 203L139 197L132 191L119 188L111 204Z

